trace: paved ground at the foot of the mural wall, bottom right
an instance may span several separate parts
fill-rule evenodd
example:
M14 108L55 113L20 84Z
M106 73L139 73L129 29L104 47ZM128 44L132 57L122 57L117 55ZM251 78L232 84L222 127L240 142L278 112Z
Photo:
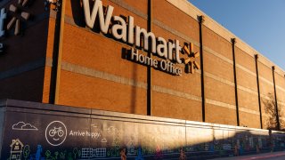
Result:
M250 155L250 156L234 156L234 157L226 157L226 158L216 158L216 160L218 159L220 160L254 160L254 159L285 160L285 151L258 154L258 155Z

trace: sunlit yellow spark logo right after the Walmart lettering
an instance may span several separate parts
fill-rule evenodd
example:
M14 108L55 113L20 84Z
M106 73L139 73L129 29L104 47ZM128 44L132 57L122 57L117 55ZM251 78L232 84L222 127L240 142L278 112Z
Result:
M187 45L183 46L183 52L188 55L188 58L185 59L183 62L185 64L185 70L187 73L194 73L194 69L199 69L199 64L196 61L196 58L199 57L199 52L192 52L193 51L193 44L189 44L190 49Z

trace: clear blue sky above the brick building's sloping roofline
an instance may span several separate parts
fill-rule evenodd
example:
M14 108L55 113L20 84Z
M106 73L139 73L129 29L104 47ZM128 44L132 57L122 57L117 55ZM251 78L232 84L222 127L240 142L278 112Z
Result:
M285 0L189 0L285 70Z

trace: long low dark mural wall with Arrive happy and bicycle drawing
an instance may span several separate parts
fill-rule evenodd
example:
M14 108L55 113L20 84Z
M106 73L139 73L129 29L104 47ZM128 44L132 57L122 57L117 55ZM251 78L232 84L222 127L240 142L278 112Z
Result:
M1 109L1 159L203 159L284 149L282 132L13 102L17 108Z

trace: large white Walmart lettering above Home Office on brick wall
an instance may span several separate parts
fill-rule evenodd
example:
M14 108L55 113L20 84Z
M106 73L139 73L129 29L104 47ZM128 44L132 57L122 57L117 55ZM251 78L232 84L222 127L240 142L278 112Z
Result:
M89 0L83 0L83 7L85 12L86 26L89 28L94 28L94 22L98 14L100 29L102 33L107 34L108 29L110 28L110 20L114 11L114 7L108 5L105 17L101 0L95 0L92 12L90 12ZM148 51L150 48L150 39L151 52L153 54L157 53L159 57L163 57L167 60L175 60L177 63L182 63L182 60L179 58L181 47L178 40L175 40L175 43L167 42L163 37L159 36L156 38L152 32L147 32L144 28L140 28L139 26L134 27L134 17L132 16L128 16L127 25L126 21L119 16L113 16L113 20L118 22L112 25L110 28L111 34L116 39L122 40L125 43L127 41L128 44L135 44L137 47L143 47L144 50ZM142 42L141 36L143 37Z

